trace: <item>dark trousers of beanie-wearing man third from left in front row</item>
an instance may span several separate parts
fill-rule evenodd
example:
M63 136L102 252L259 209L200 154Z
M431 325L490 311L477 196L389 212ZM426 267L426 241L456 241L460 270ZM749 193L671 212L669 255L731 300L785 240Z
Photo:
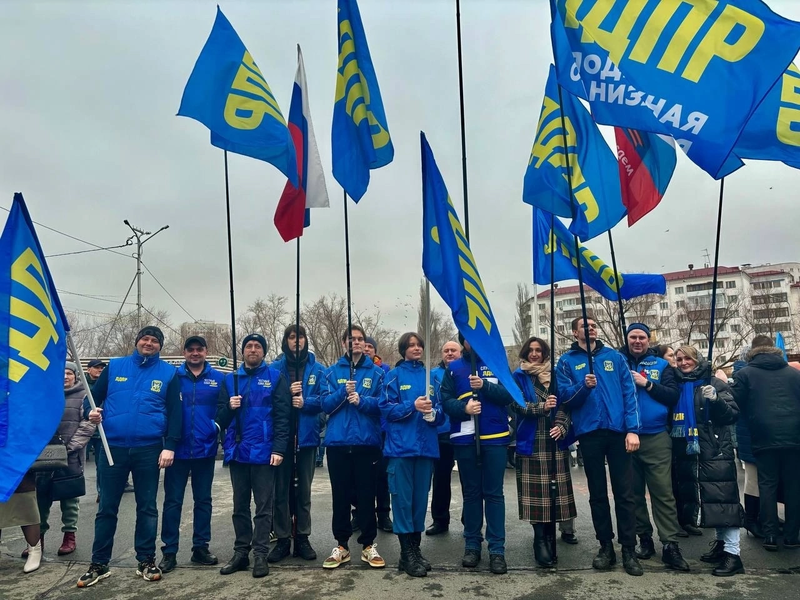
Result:
M233 551L266 556L269 553L269 529L272 523L272 493L275 467L250 465L232 460L228 463L233 487ZM250 519L250 498L256 514Z

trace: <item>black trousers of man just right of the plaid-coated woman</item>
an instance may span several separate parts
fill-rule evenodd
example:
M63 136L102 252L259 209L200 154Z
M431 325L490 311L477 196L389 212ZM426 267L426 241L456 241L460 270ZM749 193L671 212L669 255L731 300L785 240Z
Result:
M592 510L595 536L601 542L614 539L606 479L607 461L611 489L614 492L619 543L622 546L635 546L636 503L633 498L633 460L625 451L625 434L599 429L581 436L579 441L583 449L583 466L586 482L589 485L589 506Z

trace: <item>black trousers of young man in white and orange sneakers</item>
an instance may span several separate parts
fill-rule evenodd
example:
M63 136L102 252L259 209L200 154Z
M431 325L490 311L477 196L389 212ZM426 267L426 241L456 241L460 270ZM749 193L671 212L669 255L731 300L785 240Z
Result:
M350 527L350 502L355 494L358 543L370 546L378 534L375 519L376 473L383 468L380 448L373 446L328 446L328 475L331 478L333 517L331 527L336 542L345 548L353 529Z

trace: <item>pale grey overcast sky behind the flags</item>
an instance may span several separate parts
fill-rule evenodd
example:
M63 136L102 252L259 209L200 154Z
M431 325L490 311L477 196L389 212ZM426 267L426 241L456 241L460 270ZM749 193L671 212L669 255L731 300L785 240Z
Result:
M122 244L123 219L162 232L144 263L192 317L229 320L222 151L200 123L175 116L214 21L215 2L4 0L0 4L0 206L25 195L33 219L101 246ZM770 0L800 20L800 2ZM353 300L388 326L416 327L421 271L419 131L459 211L461 147L454 0L360 0L395 159L350 205ZM337 66L335 0L225 1L222 10L288 116L305 58L331 208L303 237L304 300L345 293L342 192L330 175ZM462 0L472 248L506 343L517 282L531 281L530 207L522 179L551 61L547 0ZM722 92L722 90L721 90ZM295 245L272 217L285 179L230 155L237 312L259 296L294 295ZM679 157L661 206L614 229L622 272L702 265L713 255L719 184ZM726 180L720 264L798 260L800 173L751 162ZM0 223L7 213L0 211ZM38 228L46 254L89 246ZM605 239L589 247L610 262ZM115 313L135 261L110 252L49 259L67 309ZM712 257L713 259L713 257ZM74 294L102 296L102 301ZM149 275L144 303L191 320ZM130 301L135 301L132 295ZM133 308L133 306L131 306Z

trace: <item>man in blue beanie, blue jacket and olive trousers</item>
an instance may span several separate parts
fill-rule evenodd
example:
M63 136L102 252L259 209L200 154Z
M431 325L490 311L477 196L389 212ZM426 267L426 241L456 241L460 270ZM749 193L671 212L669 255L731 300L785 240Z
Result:
M653 525L647 512L645 484L653 505L653 520L663 546L662 562L676 571L688 571L689 565L678 547L678 510L672 491L672 438L667 431L672 409L681 391L678 374L669 363L650 349L650 328L631 323L626 332L627 345L620 350L636 385L639 403L639 450L633 455L633 493L636 502L636 533L639 548L636 556L646 560L656 553Z

